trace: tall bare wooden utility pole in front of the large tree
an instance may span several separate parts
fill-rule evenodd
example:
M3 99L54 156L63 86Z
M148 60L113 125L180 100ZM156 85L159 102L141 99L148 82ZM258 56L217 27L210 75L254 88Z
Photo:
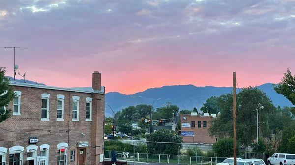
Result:
M236 165L236 72L233 72L233 139L234 139L234 165Z

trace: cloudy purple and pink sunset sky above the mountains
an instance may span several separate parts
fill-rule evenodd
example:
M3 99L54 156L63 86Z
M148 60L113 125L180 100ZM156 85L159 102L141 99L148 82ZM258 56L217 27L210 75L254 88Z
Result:
M239 87L295 73L295 0L0 0L0 47L17 72L59 87L133 94L165 85ZM13 49L0 49L13 76ZM21 79L19 75L16 78Z

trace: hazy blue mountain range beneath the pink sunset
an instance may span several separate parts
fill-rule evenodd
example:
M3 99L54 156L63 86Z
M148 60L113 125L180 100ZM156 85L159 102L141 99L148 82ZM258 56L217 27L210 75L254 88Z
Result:
M283 95L277 94L273 89L273 84L266 83L257 86L263 90L272 100L274 105L292 106L292 103ZM122 110L130 105L148 104L154 102L154 108L161 107L165 102L170 102L179 107L179 109L192 110L196 107L198 110L203 106L211 96L220 96L222 94L231 93L233 87L196 87L194 85L172 85L160 88L149 88L143 92L135 94L121 94L118 92L109 92L106 94L106 104L112 106L114 111ZM237 88L239 92L241 89ZM112 111L106 106L106 116L111 116Z

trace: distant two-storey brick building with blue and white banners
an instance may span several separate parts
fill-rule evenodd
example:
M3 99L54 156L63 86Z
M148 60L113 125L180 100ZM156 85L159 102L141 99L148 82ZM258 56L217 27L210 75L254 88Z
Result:
M216 118L216 114L209 115L204 113L202 116L195 112L180 114L181 137L183 137L183 141L188 143L215 143L217 139L210 137L208 132L212 118Z

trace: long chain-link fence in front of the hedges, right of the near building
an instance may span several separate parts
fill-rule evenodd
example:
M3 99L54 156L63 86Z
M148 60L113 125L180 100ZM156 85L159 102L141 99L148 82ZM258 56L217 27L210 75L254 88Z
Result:
M111 159L112 151L117 154L117 160L129 163L155 164L198 164L215 165L226 157L215 157L210 149L200 149L198 144L147 142L147 141L106 141L104 157Z

